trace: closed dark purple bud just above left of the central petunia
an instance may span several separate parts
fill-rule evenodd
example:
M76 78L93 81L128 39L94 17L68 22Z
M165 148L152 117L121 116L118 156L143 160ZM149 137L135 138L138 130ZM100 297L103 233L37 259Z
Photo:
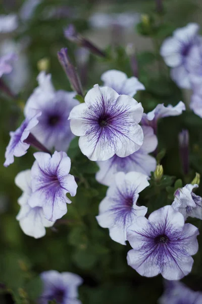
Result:
M67 48L63 48L60 50L60 52L58 52L58 59L69 79L69 82L70 82L73 90L75 90L77 92L77 94L83 96L83 89L81 86L81 81L80 81L80 78L77 74L75 67L73 66L73 64L70 61Z

